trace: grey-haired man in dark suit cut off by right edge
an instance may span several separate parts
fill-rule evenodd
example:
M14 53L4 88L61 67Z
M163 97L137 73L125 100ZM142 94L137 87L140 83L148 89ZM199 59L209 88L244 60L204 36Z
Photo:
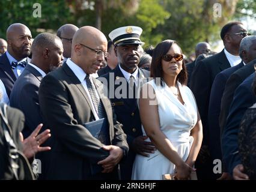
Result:
M230 111L230 104L233 101L234 92L236 88L246 79L250 74L255 71L254 65L256 64L256 41L255 35L246 37L245 49L243 50L243 57L245 58L246 66L231 74L227 80L223 97L221 99L221 113L219 116L219 125L221 133L226 125L228 113Z

